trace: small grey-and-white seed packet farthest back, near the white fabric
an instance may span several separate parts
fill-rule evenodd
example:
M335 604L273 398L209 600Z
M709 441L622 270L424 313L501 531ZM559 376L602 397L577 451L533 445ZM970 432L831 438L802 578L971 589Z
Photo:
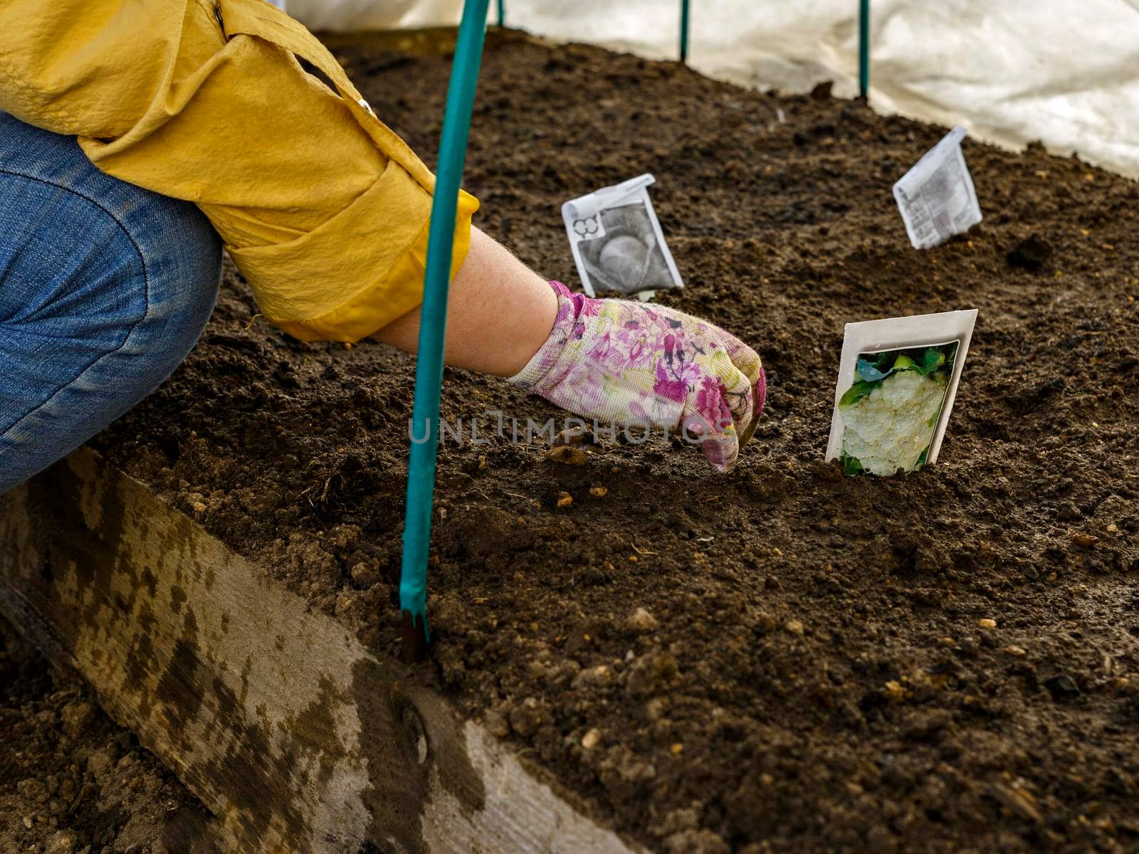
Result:
M906 233L915 249L929 249L981 222L973 176L961 154L965 129L954 128L894 184Z

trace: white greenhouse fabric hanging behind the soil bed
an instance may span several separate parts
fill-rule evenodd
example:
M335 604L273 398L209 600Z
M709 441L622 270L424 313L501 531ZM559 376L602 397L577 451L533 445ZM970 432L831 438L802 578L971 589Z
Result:
M288 0L310 27L456 24L459 0ZM803 91L858 80L858 0L691 0L689 60ZM1139 0L871 0L870 101L974 136L1139 175ZM506 0L507 26L677 56L679 0ZM494 15L494 2L491 2Z

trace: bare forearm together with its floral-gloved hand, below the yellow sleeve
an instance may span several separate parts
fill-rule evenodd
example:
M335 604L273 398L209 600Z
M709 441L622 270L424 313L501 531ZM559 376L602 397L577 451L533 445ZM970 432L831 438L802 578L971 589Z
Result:
M418 309L376 334L410 352L418 336ZM720 471L767 396L760 356L729 332L659 305L571 294L477 229L451 282L444 359L585 418L679 426Z

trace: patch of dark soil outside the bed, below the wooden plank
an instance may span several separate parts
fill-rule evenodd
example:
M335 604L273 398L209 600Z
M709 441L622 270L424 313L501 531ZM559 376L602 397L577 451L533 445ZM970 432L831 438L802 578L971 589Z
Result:
M189 854L208 815L0 619L0 852Z

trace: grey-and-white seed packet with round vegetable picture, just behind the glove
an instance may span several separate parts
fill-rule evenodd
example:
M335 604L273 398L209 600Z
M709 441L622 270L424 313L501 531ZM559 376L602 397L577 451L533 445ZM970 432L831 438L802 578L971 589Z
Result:
M570 248L585 293L637 294L683 287L661 232L648 187L656 179L639 175L562 205Z

